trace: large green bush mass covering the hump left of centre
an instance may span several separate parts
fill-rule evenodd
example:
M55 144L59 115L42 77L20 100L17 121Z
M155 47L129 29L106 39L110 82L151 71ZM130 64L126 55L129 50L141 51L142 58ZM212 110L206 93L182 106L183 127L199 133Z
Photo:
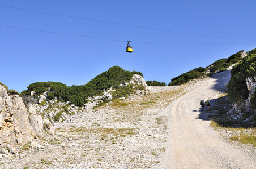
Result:
M119 66L113 66L109 68L108 71L97 75L85 85L73 85L69 87L60 82L36 82L30 84L27 87L28 89L22 92L22 95L29 96L31 95L31 91L35 91L35 97L37 97L50 88L51 92L48 92L48 100L57 97L59 100L70 101L71 104L82 106L87 102L88 97L99 95L110 87L120 89L119 85L122 82L130 81L134 73L143 75L140 72L130 72L123 70ZM126 90L126 88L124 90ZM131 89L127 88L127 90L129 91ZM118 96L121 95L127 95L127 92L118 94Z

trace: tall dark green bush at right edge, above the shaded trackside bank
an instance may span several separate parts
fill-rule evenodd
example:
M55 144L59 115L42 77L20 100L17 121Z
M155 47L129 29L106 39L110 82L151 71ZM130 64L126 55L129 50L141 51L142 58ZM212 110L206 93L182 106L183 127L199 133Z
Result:
M248 99L249 91L246 85L246 78L256 76L255 70L256 49L251 50L248 56L244 57L242 61L231 70L231 79L227 86L230 100L240 102ZM256 99L254 100L256 101Z

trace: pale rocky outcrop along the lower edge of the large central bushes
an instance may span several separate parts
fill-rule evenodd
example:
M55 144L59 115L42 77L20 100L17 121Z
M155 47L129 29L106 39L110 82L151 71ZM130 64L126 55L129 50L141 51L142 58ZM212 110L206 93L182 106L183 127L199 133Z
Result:
M141 75L133 74L131 81L123 82L122 84L120 84L120 87L125 87L128 84L133 84L132 86L135 95L145 95L148 93L148 86L145 79ZM112 94L114 91L115 90L113 88L110 88L109 90L101 93L101 95L89 97L88 103L84 104L82 108L78 108L75 105L70 104L69 101L62 102L57 100L57 97L54 100L48 100L48 92L54 92L51 91L50 88L48 88L47 91L45 91L42 95L38 97L39 104L29 103L27 105L28 112L30 113L29 118L33 131L37 136L42 136L42 131L44 131L46 128L46 130L48 130L50 134L54 134L51 122L53 123L56 121L66 121L70 114L79 114L84 110L90 110L94 106L98 106L105 100L112 100ZM35 92L32 91L31 96L33 96L34 94ZM121 99L125 99L125 97L122 97ZM50 119L51 122L48 119Z

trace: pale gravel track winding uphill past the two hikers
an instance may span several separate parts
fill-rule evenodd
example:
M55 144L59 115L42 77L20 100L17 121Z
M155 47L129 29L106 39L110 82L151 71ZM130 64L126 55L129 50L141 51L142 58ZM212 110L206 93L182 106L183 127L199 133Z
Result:
M168 150L163 168L256 167L255 159L221 139L209 126L209 113L200 111L200 100L216 99L229 78L230 72L226 71L195 83L190 92L170 104Z

